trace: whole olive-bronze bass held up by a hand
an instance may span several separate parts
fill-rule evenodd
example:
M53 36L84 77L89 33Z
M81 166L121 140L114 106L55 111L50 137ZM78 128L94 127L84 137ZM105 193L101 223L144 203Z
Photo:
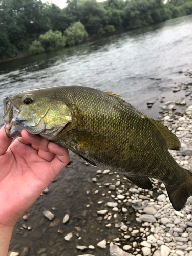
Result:
M119 95L91 87L58 86L20 92L4 100L8 137L22 129L73 151L92 166L123 174L138 187L161 181L175 210L192 195L192 173L168 150L180 141L167 127Z

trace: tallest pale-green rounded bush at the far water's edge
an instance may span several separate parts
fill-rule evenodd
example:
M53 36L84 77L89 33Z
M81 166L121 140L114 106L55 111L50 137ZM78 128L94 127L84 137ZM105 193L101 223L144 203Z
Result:
M66 36L66 43L69 46L73 46L82 42L85 37L88 37L84 25L81 22L75 22L70 25L64 32Z

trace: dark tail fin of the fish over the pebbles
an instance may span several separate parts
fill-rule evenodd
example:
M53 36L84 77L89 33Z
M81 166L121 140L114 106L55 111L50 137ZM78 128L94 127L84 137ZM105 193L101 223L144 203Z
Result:
M189 196L192 195L192 173L189 170L182 168L186 173L186 180L179 186L168 186L165 185L170 202L172 203L175 210L180 211Z

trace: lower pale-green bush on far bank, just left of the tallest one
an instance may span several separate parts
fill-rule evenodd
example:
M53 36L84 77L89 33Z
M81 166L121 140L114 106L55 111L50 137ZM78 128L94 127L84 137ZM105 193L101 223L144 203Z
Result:
M40 35L39 41L46 52L65 47L65 37L60 31L53 31L52 29Z

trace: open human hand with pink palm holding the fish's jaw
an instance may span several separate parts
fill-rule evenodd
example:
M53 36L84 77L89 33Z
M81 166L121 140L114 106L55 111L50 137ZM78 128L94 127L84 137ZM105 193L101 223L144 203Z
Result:
M70 160L64 147L25 129L21 136L11 144L0 129L0 230L13 227Z

